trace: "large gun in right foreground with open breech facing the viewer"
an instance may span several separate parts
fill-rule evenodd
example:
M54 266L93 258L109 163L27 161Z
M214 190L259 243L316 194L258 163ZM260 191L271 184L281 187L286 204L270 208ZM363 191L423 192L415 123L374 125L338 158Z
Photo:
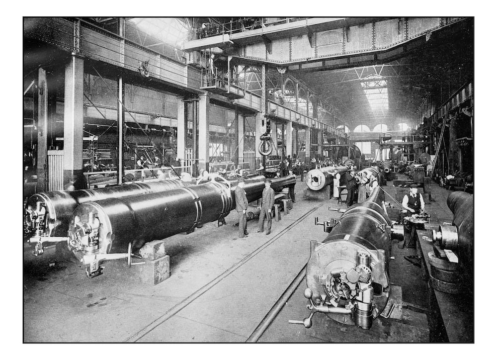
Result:
M321 312L369 329L389 298L391 240L402 237L401 228L394 229L386 213L383 190L376 187L365 202L339 219L319 223L316 218L316 224L330 234L322 243L311 241L304 291L311 313L292 323L310 328L314 314Z

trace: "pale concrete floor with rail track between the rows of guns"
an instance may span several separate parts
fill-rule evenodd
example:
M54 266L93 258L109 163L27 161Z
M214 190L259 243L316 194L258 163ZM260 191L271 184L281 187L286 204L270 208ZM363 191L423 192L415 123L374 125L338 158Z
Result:
M304 200L304 188L305 183L297 181L297 203L281 221L273 221L268 236L255 233L256 221L249 221L248 238L238 239L232 213L226 226L208 224L168 238L171 275L155 286L139 282L124 260L105 263L103 275L88 279L78 262L57 257L55 249L35 258L26 247L24 342L245 342L306 264L310 240L326 237L314 217L341 215L328 210L336 200ZM391 182L385 189L393 190ZM434 201L426 205L432 220L452 219L446 197L445 189L433 186ZM404 301L427 307L421 270L404 260L414 249L395 244L392 249L392 283L402 286ZM393 334L391 324L382 323L375 332L328 321L338 329L332 338L288 324L288 319L308 315L304 288L305 281L259 341L402 341L378 335Z

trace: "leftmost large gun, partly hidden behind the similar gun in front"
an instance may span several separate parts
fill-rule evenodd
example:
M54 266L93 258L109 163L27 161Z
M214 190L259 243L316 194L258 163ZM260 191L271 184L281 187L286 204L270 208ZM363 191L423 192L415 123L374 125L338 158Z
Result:
M24 233L29 236L29 243L36 244L33 255L38 256L43 254L46 243L67 242L71 215L84 202L148 194L182 186L180 180L163 180L98 189L39 192L27 200Z

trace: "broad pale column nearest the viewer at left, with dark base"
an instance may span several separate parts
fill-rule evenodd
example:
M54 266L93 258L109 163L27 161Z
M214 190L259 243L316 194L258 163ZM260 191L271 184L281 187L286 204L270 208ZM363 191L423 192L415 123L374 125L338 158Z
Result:
M83 59L72 56L64 79L64 187L74 181L86 187L83 176Z

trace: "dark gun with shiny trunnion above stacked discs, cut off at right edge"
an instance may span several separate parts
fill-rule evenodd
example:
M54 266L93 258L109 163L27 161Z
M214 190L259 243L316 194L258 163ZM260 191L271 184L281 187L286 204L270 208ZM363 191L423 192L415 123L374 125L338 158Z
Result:
M454 191L447 197L447 206L454 219L452 225L440 225L438 231L432 230L430 283L442 292L469 292L473 288L474 277L474 196Z

